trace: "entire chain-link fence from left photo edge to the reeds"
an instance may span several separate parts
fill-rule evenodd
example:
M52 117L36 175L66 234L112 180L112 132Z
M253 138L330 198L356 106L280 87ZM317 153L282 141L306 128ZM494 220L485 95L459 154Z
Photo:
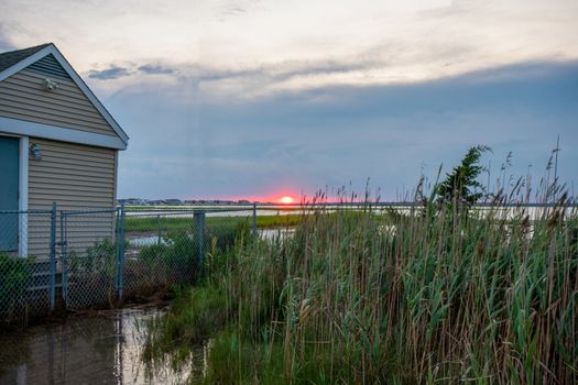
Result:
M102 308L203 274L205 255L255 232L255 209L0 211L0 317Z

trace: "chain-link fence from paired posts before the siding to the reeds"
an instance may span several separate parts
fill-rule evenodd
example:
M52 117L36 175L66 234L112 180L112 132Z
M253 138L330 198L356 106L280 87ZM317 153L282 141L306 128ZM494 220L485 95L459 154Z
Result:
M208 248L254 232L254 209L62 211L63 298L69 309L149 297L203 274Z

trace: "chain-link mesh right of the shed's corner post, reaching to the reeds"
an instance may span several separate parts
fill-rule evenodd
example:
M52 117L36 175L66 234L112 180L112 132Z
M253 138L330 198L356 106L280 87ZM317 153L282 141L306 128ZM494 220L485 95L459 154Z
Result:
M123 296L194 282L211 248L232 244L250 218L248 210L127 210Z

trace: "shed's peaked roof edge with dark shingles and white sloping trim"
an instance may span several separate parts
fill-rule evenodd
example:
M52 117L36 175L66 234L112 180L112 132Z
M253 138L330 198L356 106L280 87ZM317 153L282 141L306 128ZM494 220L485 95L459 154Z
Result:
M105 118L107 123L109 123L112 130L114 130L114 133L121 141L120 145L117 145L116 147L118 147L119 150L127 148L127 145L129 143L129 136L127 135L127 133L121 129L119 123L117 123L114 118L112 118L112 116L108 112L105 106L102 106L100 100L98 100L98 98L92 94L92 91L88 88L86 82L80 78L76 70L74 70L70 64L66 61L66 58L61 54L58 48L56 48L56 46L53 43L41 44L30 48L11 51L0 54L0 81L26 68L28 66L33 65L34 63L41 61L42 58L48 55L52 55L52 57L56 59L56 62L62 66L66 75L68 75L72 81L75 82L76 86L78 86L78 88L80 88L80 90L90 100L90 102L95 106L98 112L100 112L102 118Z

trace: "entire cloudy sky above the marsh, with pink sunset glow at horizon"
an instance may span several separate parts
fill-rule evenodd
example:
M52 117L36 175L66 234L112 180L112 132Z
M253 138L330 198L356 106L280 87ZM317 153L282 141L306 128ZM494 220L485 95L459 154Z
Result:
M1 3L0 50L54 42L130 135L120 198L389 200L476 144L537 180L558 135L578 184L574 0Z

